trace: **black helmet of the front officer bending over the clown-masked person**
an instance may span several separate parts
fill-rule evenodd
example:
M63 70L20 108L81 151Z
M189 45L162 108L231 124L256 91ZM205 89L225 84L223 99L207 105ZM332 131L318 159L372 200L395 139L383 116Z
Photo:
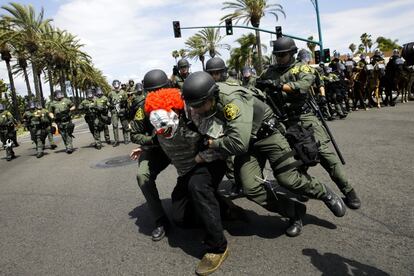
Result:
M182 97L189 106L197 107L217 95L218 86L213 77L206 72L195 72L185 79Z

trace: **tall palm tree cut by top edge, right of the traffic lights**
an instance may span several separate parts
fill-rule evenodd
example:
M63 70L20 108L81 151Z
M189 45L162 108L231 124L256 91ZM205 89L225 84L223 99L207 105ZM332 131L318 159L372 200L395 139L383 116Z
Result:
M240 20L243 20L244 24L251 24L255 28L259 28L260 20L266 13L270 13L275 16L276 21L279 19L278 13L286 17L283 7L280 4L268 4L267 0L235 0L235 2L224 2L225 9L234 10L232 13L227 14L221 18L221 21L226 19L235 19L238 23ZM256 45L261 45L260 42L260 32L256 30ZM257 48L259 63L258 63L258 73L262 72L262 49L261 47Z

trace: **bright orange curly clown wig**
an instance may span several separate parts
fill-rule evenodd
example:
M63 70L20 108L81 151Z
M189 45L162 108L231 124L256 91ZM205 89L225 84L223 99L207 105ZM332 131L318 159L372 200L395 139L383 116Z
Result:
M184 109L184 101L181 92L177 88L161 88L157 91L148 93L145 99L145 112L149 114L157 109L171 111L172 109Z

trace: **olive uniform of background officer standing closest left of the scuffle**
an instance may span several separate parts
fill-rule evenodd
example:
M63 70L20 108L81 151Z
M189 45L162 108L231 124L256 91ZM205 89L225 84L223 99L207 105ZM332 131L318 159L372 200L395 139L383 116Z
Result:
M118 120L121 121L124 142L129 142L130 129L127 119L127 99L128 95L124 90L112 90L108 95L109 106L111 108L112 128L116 143L119 142Z

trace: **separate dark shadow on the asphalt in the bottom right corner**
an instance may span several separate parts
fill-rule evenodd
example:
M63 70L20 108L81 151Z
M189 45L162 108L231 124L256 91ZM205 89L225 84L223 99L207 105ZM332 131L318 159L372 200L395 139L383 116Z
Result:
M338 254L320 254L318 250L305 248L303 255L311 258L311 263L322 272L322 275L389 275L388 273L355 260L347 259Z

